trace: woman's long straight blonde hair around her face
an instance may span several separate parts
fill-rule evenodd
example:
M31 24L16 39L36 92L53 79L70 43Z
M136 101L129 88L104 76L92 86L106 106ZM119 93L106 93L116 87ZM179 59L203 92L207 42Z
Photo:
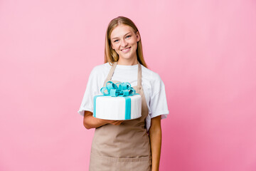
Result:
M111 48L111 41L110 41L110 34L112 33L113 29L116 28L117 26L124 24L127 26L130 26L134 29L135 33L139 30L137 26L135 26L134 22L132 20L128 19L127 17L124 16L118 16L115 19L112 19L110 21L110 24L107 26L107 31L106 31L106 37L105 37L105 63L112 63L117 62L119 60L118 54L114 51L114 49ZM147 68L146 62L144 61L143 58L143 52L142 52L142 38L139 33L140 40L137 42L137 60L139 63L141 63L144 67Z

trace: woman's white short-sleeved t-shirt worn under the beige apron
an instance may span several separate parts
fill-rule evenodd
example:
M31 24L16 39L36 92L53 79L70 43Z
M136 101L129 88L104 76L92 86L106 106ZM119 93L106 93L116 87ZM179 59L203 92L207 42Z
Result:
M100 94L100 88L102 88L111 67L110 63L104 63L92 69L80 109L78 110L80 115L84 116L85 110L93 113L93 97ZM137 76L138 64L134 66L117 65L111 80L129 82L133 87L137 86ZM146 117L146 129L149 130L151 118L161 115L161 119L164 119L169 114L169 110L164 82L158 73L154 73L144 66L142 66L142 88L146 98L146 105L149 108L149 115Z

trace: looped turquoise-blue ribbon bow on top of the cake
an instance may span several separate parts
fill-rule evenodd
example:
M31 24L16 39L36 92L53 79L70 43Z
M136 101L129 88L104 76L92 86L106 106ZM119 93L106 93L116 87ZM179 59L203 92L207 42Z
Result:
M105 92L106 90L107 93ZM136 93L136 91L134 90L134 88L132 88L130 83L113 83L112 81L108 81L106 83L106 87L102 87L100 89L100 92L103 95L110 95L111 97L130 96Z

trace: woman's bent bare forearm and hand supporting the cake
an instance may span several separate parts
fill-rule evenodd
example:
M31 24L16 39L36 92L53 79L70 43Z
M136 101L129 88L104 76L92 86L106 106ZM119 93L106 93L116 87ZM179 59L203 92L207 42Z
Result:
M98 128L102 125L106 125L107 123L110 123L112 125L120 125L123 122L123 120L102 120L99 118L95 118L92 116L92 113L90 111L85 111L84 119L83 119L83 125L87 130L90 128Z

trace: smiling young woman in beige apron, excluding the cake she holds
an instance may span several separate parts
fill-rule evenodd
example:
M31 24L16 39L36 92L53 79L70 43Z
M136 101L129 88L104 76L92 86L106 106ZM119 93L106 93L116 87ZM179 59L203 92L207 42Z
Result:
M142 95L142 117L134 120L94 118L93 96L107 81L129 82ZM169 114L160 76L146 68L137 26L124 16L112 19L105 38L105 63L90 73L78 110L85 128L96 128L90 154L91 171L159 170L161 118Z

